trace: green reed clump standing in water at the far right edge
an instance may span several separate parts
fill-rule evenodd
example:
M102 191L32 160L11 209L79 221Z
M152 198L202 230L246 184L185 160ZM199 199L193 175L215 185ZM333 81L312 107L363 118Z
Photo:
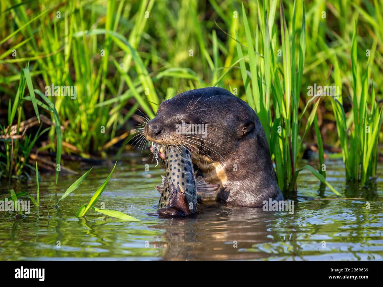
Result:
M363 72L357 58L356 23L352 36L351 68L352 68L352 109L349 119L352 126L348 126L340 89L339 99L331 102L337 123L337 131L342 146L342 156L345 163L346 178L359 181L361 185L376 176L378 155L378 134L382 124L382 108L379 109L373 83L369 83L369 66ZM334 58L335 85L342 86L340 68L337 58Z

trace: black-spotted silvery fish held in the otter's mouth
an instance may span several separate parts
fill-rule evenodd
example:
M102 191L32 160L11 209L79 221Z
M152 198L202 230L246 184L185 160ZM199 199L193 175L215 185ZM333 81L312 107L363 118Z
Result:
M219 185L195 178L191 154L184 146L152 143L151 151L158 163L158 157L165 160L165 176L162 185L155 186L161 194L158 213L170 216L188 216L197 211L197 192L214 193ZM161 153L161 154L160 154ZM160 154L160 155L159 155Z

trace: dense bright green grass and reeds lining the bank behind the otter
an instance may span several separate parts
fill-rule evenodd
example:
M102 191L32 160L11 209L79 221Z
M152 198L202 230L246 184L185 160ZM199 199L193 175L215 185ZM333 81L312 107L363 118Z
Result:
M117 142L121 152L137 109L152 118L165 97L213 85L259 115L282 190L296 189L304 140L318 142L319 164L303 168L324 182L322 137L342 148L348 180L375 176L382 0L0 4L3 177L28 176L36 151L55 152L56 165L62 152L100 156ZM77 96L44 96L52 84ZM314 84L339 92L309 96ZM34 116L37 133L26 128Z

